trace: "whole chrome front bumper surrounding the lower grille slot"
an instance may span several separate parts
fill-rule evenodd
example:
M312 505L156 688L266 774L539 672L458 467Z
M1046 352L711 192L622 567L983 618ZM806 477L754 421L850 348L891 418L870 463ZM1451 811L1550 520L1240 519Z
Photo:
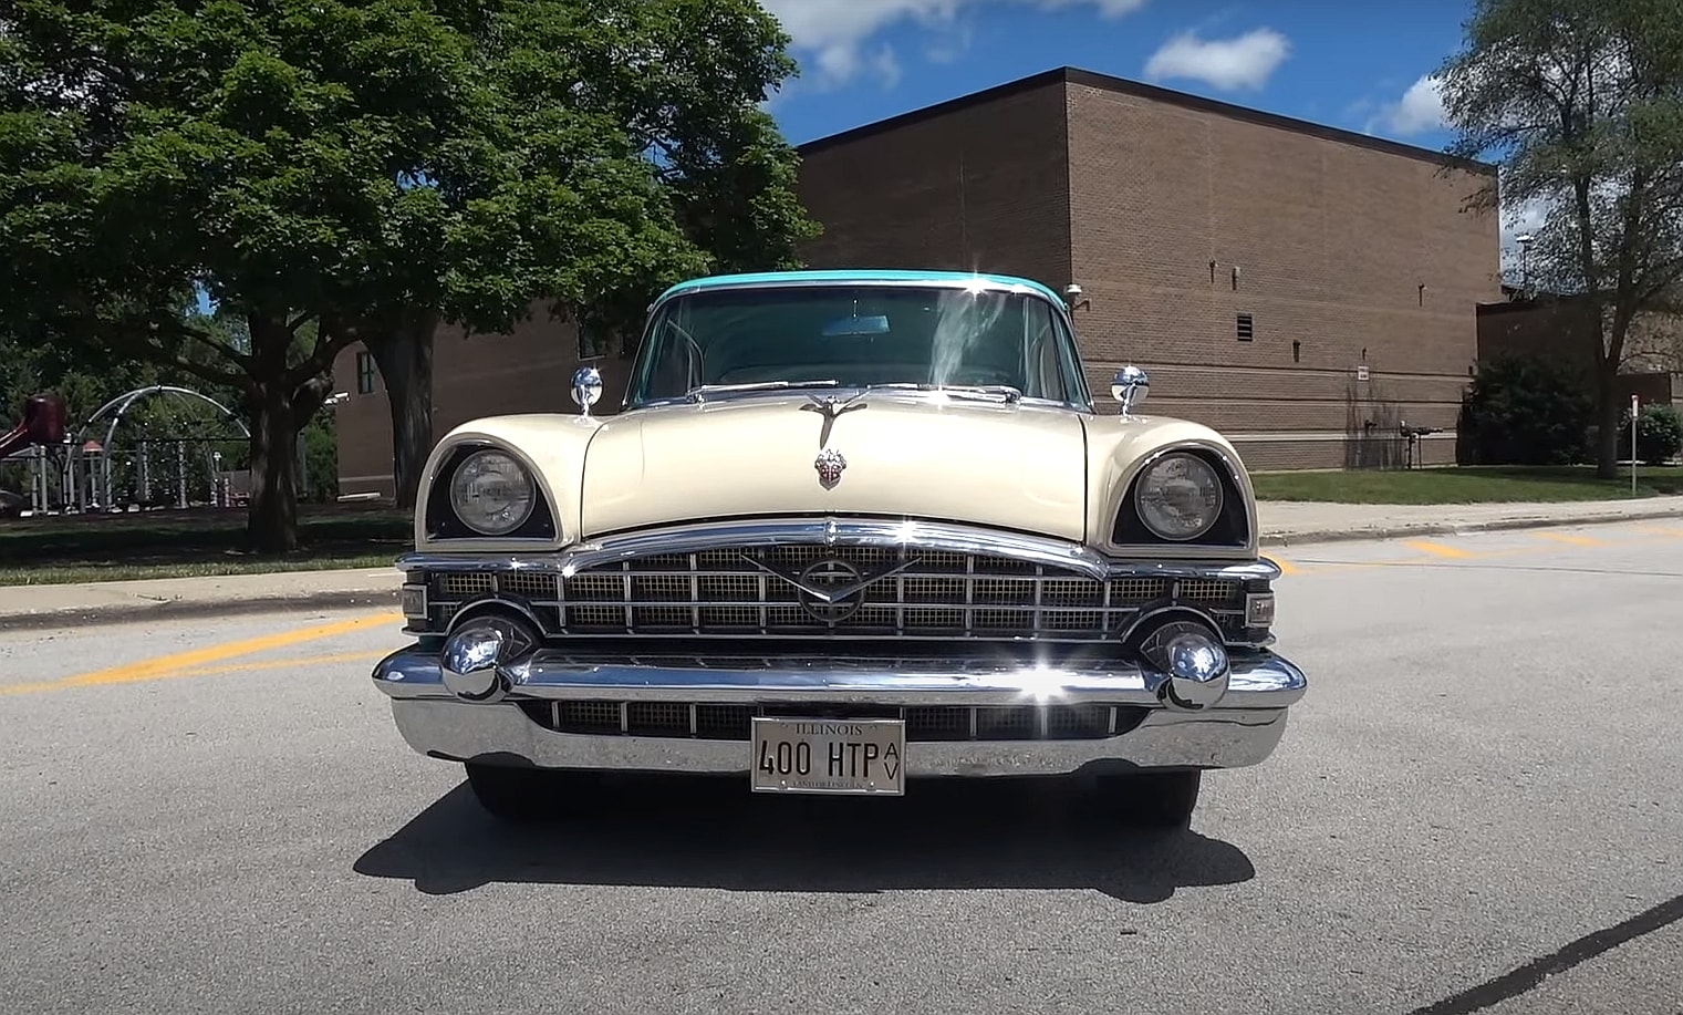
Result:
M1289 705L1308 682L1272 651L1232 658L1227 690L1208 707L1165 704L1161 673L1114 658L1057 663L1023 660L680 658L589 655L540 650L508 672L496 702L468 702L444 685L438 650L412 646L374 670L392 699L399 732L416 751L449 761L495 764L741 774L751 769L749 739L698 736L698 709L833 714L847 709L900 710L1015 707L1037 715L1032 736L988 739L971 717L968 737L907 744L907 776L1067 774L1094 768L1244 768L1274 752ZM540 717L550 709L592 704L621 719L618 729L564 732ZM666 736L643 736L626 722L631 709L661 704L688 709L690 722ZM1109 727L1065 737L1047 715L1060 707L1107 710ZM682 714L682 712L680 712ZM1118 717L1126 717L1119 720Z

